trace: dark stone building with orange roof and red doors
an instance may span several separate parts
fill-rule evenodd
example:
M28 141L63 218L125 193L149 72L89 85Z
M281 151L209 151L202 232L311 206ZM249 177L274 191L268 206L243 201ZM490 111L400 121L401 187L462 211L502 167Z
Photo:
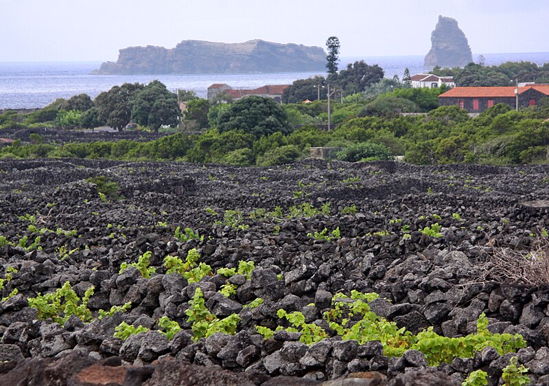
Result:
M526 87L454 87L439 95L441 106L460 106L468 113L482 113L494 104L504 103L511 109L535 106L549 96L549 84ZM517 100L518 99L518 100Z

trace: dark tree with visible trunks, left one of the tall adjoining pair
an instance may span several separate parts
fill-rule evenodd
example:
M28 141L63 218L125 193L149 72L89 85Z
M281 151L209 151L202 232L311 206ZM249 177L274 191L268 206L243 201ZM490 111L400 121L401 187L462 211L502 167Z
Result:
M100 122L122 131L130 123L132 113L130 100L142 89L143 84L124 83L97 95L94 103Z

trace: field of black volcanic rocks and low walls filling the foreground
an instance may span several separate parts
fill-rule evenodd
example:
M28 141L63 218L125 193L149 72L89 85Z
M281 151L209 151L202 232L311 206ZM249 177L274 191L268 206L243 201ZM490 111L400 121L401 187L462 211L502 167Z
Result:
M98 176L119 191L104 196L85 181ZM505 265L543 242L548 194L546 166L0 161L0 385L459 385L479 369L497 385L513 356L531 383L549 385L549 274L522 264L534 253ZM175 238L176 227L201 238ZM191 249L211 274L195 283L167 274L165 256L185 261ZM147 252L150 278L120 273ZM240 261L255 263L249 278L216 274ZM61 326L28 306L67 281L79 297L94 287L84 321ZM239 316L235 334L192 339L196 288L218 319ZM352 290L379 294L371 310L414 334L432 326L463 337L485 313L491 332L522 334L526 347L436 367L417 350L386 356L379 341L342 340L323 319L334 295ZM301 311L328 338L264 339L255 326L289 326L279 309ZM172 339L161 317L182 328ZM123 321L149 330L114 337Z

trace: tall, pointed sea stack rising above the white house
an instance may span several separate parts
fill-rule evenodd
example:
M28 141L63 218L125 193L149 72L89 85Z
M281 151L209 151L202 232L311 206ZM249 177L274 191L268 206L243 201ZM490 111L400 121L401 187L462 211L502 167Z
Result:
M423 67L465 67L473 61L471 47L456 19L439 16L431 33L431 49Z

